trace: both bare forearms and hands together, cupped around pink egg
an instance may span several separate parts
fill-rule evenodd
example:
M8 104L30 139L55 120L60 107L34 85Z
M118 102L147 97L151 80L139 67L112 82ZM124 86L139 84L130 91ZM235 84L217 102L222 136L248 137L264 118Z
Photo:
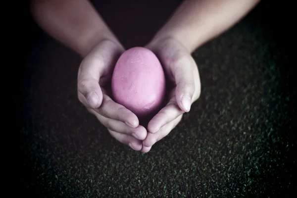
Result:
M148 123L114 102L104 89L125 50L88 0L31 0L31 13L45 32L83 57L78 99L119 142L148 152L167 136L200 96L198 66L192 52L219 36L259 0L184 0L147 44L160 59L173 88L170 100Z

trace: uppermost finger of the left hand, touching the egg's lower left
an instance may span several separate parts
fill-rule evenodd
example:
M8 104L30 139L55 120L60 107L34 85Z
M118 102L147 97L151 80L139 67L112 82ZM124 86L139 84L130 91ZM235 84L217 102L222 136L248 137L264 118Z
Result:
M82 94L79 95L79 98L82 100L82 103L87 103L87 99L85 99ZM124 122L130 127L135 128L139 125L137 116L123 105L114 102L108 95L105 94L105 91L103 91L102 98L100 107L94 109L97 113L106 118Z

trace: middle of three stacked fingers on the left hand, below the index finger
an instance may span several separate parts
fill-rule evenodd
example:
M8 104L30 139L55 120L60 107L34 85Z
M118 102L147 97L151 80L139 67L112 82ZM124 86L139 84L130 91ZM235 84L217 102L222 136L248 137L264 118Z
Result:
M139 140L145 140L147 137L147 130L145 127L139 125L136 128L130 127L126 125L125 123L118 121L118 120L113 120L110 118L106 118L99 113L97 113L94 109L89 109L90 112L92 112L98 120L107 128L112 131L116 131L121 134L126 134L133 136Z

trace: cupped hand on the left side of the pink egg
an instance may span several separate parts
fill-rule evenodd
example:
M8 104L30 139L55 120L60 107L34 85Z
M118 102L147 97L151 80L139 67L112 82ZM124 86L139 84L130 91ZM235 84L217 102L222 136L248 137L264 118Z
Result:
M145 127L137 116L123 105L114 102L103 87L110 82L123 47L103 40L83 59L78 71L78 99L107 127L110 135L134 150L142 149L147 137Z

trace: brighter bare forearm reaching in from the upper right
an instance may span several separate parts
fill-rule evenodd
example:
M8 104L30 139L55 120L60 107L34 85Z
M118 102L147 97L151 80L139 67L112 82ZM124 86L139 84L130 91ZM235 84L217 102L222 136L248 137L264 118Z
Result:
M154 39L173 37L193 52L235 25L260 0L185 0Z

